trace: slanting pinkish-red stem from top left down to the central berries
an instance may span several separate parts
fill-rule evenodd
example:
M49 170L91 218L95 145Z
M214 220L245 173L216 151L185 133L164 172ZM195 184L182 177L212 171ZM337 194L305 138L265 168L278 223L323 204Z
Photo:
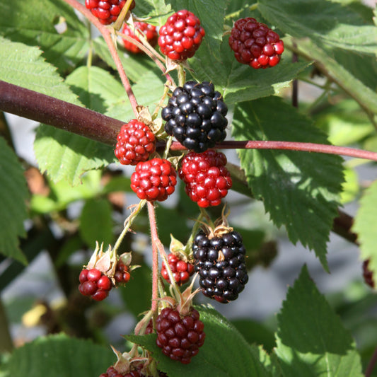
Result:
M131 85L128 81L127 74L124 71L124 68L122 66L122 62L120 61L120 57L117 53L117 48L115 46L115 43L112 40L112 35L110 33L110 29L105 28L100 21L98 21L98 18L93 16L91 11L89 11L85 6L79 3L79 1L76 0L64 0L67 4L75 8L77 11L83 14L86 18L88 18L93 25L95 25L98 30L100 30L100 33L103 35L103 39L105 40L106 44L108 45L110 54L112 56L112 59L115 62L115 65L117 66L117 71L120 76L120 80L122 81L122 84L124 86L124 89L126 90L127 96L129 98L129 102L131 103L132 110L134 110L134 115L137 117L139 115L139 112L137 111L137 100L135 98L134 92L132 91Z

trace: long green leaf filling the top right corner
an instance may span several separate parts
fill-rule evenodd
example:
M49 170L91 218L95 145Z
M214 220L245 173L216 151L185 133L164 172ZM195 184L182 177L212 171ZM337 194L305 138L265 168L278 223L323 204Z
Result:
M320 46L377 53L376 28L341 4L327 0L259 0L258 10L293 37L308 37Z

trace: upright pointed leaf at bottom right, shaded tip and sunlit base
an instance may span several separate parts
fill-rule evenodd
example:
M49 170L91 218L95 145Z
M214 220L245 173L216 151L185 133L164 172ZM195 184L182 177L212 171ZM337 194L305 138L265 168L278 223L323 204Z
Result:
M284 376L361 377L354 340L303 267L278 317L276 354Z

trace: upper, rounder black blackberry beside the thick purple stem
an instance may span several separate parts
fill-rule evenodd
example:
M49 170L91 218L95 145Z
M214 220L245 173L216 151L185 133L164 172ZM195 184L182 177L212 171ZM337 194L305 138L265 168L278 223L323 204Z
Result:
M197 153L212 148L226 137L228 107L221 93L208 81L187 81L173 91L161 116L165 131Z

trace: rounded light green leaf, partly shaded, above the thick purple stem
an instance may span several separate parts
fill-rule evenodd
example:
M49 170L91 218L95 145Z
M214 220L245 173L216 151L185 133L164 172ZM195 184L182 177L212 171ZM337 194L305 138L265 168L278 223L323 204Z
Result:
M122 84L98 66L79 66L66 77L66 84L86 108L101 113L119 98L127 98Z

